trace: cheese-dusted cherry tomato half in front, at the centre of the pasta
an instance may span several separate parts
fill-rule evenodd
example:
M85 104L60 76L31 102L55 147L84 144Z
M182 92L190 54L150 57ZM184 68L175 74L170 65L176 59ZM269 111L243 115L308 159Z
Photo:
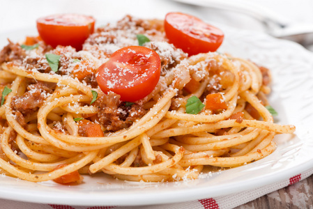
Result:
M124 47L98 68L97 82L104 93L135 102L151 93L160 79L160 56L146 47Z

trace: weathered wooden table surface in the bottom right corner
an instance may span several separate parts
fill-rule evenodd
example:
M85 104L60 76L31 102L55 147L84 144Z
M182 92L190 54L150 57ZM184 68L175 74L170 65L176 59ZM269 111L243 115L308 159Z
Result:
M236 209L250 208L313 208L313 175L238 206Z

